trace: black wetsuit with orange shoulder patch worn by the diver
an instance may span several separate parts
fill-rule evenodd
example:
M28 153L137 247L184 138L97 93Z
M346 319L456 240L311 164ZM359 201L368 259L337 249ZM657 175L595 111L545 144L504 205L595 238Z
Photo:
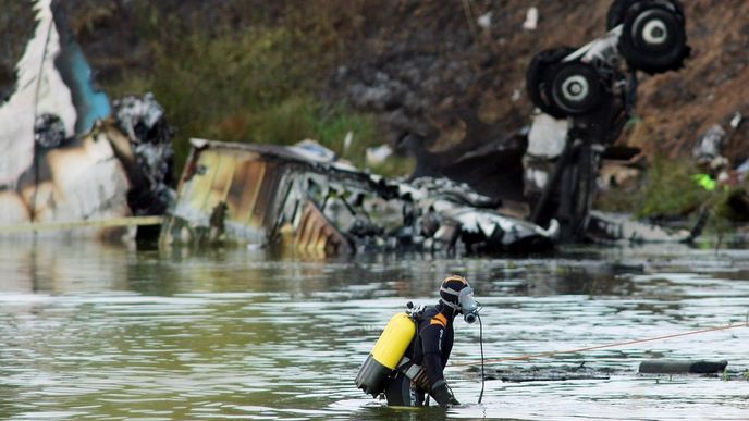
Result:
M398 371L385 388L388 405L421 406L425 403L426 392L430 392L438 404L450 404L443 370L447 364L450 352L453 350L453 310L443 309L441 304L429 307L421 313L416 336L408 345L405 356L413 363L426 369L430 391L418 387L403 372Z

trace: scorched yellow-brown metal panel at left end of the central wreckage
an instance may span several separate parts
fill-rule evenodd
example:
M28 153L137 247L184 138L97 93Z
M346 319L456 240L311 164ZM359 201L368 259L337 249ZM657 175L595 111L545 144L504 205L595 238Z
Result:
M162 244L282 242L303 250L348 251L346 238L299 194L309 170L299 157L282 147L195 139L193 145ZM284 235L282 228L292 225Z

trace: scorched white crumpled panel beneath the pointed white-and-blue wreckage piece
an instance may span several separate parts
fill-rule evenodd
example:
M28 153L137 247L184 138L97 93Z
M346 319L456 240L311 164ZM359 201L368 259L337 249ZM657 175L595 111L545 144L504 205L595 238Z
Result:
M35 161L12 185L0 185L0 226L162 214L173 193L163 173L138 159L137 145L116 121L101 121L88 134L39 148ZM169 149L169 140L161 144ZM13 160L14 157L5 157ZM118 228L90 227L46 232L47 236L107 236Z

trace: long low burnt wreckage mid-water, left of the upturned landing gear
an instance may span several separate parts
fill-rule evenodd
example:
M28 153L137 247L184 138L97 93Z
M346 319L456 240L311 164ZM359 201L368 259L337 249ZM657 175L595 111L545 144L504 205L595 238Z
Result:
M541 251L558 233L500 214L495 200L466 185L388 179L335 161L316 144L192 145L161 243L233 240L323 255Z

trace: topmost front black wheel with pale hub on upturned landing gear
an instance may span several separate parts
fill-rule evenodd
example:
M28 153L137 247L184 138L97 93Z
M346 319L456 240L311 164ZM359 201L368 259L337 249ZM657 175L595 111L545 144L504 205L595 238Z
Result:
M633 69L650 74L682 69L689 57L684 16L668 2L638 1L627 10L618 48Z

